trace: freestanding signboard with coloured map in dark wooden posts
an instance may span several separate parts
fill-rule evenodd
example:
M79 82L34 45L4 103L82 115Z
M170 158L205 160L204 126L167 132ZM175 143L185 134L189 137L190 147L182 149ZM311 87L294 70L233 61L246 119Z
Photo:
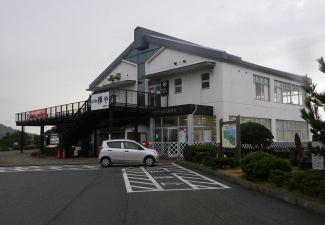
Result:
M219 120L220 146L218 148L218 157L223 157L223 152L232 152L235 160L241 158L240 147L240 116L235 120L223 122Z

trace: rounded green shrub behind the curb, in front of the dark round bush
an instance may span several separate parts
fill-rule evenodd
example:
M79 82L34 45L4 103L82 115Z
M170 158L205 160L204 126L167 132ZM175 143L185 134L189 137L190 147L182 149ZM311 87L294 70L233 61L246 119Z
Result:
M278 169L284 172L291 170L286 160L263 151L252 152L243 157L240 160L240 168L249 180L267 179L272 169Z

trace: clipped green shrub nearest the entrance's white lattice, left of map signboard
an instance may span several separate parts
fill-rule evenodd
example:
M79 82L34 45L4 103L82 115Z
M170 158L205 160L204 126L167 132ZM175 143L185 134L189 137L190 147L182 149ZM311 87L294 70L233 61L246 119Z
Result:
M187 145L184 148L184 159L192 162L201 162L203 158L216 155L216 146ZM206 160L206 159L205 159Z

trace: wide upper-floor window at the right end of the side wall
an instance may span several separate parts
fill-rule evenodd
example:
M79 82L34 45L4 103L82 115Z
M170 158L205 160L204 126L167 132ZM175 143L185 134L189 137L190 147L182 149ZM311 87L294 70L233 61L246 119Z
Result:
M306 93L298 85L274 80L274 101L303 105Z

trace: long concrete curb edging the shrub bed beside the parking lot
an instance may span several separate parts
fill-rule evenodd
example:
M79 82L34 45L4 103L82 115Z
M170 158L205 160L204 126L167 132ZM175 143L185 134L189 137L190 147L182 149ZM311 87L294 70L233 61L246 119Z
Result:
M219 178L228 180L230 182L233 182L233 183L236 183L236 184L239 184L239 185L242 185L242 186L257 190L257 191L260 191L262 193L265 193L265 194L270 195L272 197L284 200L286 202L296 204L296 205L298 205L300 207L303 207L303 208L306 208L306 209L308 209L310 211L314 211L314 212L317 212L319 214L325 215L325 204L323 204L323 203L315 202L315 201L312 201L312 200L309 200L309 199L306 199L306 198L303 198L303 197L300 197L300 196L297 196L297 195L294 195L294 194L291 194L291 193L286 193L286 192L281 191L281 190L272 189L270 187L263 186L261 184L254 183L254 182L251 182L251 181L248 181L248 180L244 180L242 178L235 177L235 176L232 176L230 174L219 172L217 170L210 169L209 167L206 167L206 166L203 166L203 165L198 165L196 163L185 161L183 159L177 159L176 162L180 163L180 164L190 166L192 168L195 168L195 169L198 169L198 170L201 170L201 171L204 171L206 173L215 175L215 176L217 176Z

